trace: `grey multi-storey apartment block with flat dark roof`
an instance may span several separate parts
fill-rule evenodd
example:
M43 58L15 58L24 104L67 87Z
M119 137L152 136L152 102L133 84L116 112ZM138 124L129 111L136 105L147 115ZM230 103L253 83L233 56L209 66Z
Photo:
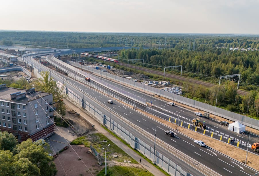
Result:
M0 131L19 141L44 139L54 133L53 95L0 85Z

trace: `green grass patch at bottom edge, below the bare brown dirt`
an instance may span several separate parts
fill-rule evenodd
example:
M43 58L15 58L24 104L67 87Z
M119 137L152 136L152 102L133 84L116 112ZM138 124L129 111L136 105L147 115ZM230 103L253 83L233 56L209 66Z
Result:
M101 170L97 176L105 175L105 168ZM120 176L120 175L145 175L145 176L152 176L153 174L147 171L146 169L142 168L135 168L135 167L127 167L127 166L113 166L107 167L107 175L108 176Z

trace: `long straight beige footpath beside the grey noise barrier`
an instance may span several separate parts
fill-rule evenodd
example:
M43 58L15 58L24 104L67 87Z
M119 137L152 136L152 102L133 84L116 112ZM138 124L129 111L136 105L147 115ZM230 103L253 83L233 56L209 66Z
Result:
M64 99L64 102L66 105L68 105L71 109L76 110L76 112L80 113L82 117L84 117L86 120L88 120L91 124L94 125L96 130L98 130L100 133L105 135L107 138L109 138L115 145L117 145L119 148L121 148L124 152L126 152L129 156L131 156L134 160L138 161L141 158L141 165L146 170L154 174L155 176L164 176L165 174L156 169L152 164L150 164L148 161L146 161L144 158L140 157L136 152L134 152L131 148L127 147L125 144L123 144L121 141L119 141L117 138L115 138L113 135L111 135L108 131L103 129L103 127L100 126L96 120L94 120L92 117L88 116L81 108L78 108L70 101Z

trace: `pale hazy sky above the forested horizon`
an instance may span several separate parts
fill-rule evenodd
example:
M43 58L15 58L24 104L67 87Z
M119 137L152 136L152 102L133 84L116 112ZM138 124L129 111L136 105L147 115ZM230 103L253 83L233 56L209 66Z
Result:
M259 0L3 0L0 30L259 34Z

